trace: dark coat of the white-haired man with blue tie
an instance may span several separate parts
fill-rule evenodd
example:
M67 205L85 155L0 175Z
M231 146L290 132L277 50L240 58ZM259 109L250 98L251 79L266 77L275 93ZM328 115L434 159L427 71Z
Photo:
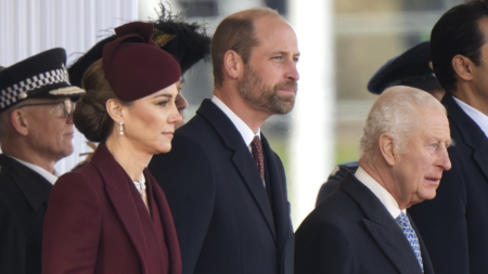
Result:
M434 273L420 236L419 244L424 273ZM305 219L295 245L295 274L422 273L398 223L351 173Z

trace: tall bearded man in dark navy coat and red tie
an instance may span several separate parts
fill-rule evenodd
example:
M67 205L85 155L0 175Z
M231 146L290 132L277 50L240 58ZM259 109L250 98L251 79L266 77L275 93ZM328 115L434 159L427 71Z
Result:
M224 18L213 38L215 90L149 169L168 198L183 273L293 273L283 165L260 127L292 110L297 40L272 10Z

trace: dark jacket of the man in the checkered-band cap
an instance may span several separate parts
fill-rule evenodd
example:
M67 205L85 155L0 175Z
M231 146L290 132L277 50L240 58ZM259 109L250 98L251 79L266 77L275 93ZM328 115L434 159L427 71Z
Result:
M42 224L52 184L0 155L0 273L41 272Z

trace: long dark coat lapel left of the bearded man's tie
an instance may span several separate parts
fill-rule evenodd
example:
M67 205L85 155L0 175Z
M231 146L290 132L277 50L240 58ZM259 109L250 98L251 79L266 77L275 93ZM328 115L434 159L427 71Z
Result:
M262 185L262 180L256 168L256 164L253 160L253 156L244 143L241 133L227 115L210 100L204 100L196 113L202 115L211 127L214 127L217 133L222 138L224 146L234 152L231 161L258 205L271 234L275 237L273 217L268 195L266 194L266 188Z

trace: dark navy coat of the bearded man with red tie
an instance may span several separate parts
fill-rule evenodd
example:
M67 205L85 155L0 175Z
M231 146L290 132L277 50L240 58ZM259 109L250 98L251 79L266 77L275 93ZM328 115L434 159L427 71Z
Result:
M168 197L184 274L293 272L284 170L261 141L267 188L237 129L205 100L176 131L171 152L153 157L149 169Z

